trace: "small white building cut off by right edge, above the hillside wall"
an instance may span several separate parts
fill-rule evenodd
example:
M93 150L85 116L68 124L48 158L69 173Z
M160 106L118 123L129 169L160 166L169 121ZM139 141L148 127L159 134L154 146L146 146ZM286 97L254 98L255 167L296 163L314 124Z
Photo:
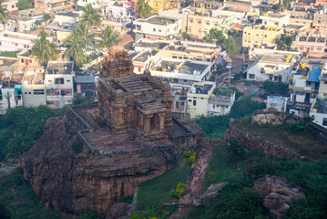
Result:
M314 123L327 129L327 100L317 98L312 104L312 110L310 116L313 117Z

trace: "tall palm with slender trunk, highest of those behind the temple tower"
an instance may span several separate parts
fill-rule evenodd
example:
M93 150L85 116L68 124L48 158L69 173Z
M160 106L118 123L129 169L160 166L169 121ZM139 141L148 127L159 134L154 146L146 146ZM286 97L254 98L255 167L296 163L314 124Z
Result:
M83 16L79 19L80 23L91 30L93 33L93 26L100 28L101 26L101 15L97 8L93 8L91 4L87 4L86 7L82 7ZM95 37L93 36L93 45L95 45ZM95 48L95 47L94 47Z

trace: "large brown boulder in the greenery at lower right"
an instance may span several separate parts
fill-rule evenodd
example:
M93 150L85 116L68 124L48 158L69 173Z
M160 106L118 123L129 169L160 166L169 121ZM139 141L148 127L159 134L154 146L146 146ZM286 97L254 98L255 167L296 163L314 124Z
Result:
M281 218L282 213L289 211L291 199L306 198L300 186L278 176L264 176L258 179L253 190L261 194L263 206L274 218Z

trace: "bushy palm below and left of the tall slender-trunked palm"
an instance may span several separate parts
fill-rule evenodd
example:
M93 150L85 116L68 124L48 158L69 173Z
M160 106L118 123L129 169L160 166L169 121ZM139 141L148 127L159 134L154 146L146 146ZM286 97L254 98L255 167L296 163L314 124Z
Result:
M70 36L66 37L64 46L69 47L66 51L66 57L73 58L75 68L78 69L82 64L87 62L87 57L84 55L84 50L87 47L87 36L81 36L85 30L85 26L78 26L73 29Z

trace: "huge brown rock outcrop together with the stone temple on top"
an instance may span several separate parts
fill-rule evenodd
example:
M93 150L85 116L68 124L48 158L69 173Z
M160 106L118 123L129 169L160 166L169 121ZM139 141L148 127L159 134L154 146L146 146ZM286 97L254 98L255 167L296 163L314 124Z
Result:
M133 196L138 183L166 172L182 151L198 147L201 131L169 117L165 107L172 98L157 78L132 75L120 48L104 62L100 102L47 120L40 140L20 160L36 195L67 214L107 214L120 197ZM81 151L72 152L73 141Z

